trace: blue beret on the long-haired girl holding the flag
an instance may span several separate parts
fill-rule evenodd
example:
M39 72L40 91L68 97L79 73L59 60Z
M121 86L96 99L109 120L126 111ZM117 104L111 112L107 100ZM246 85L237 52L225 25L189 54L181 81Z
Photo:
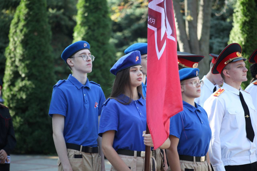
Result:
M141 65L141 55L138 50L122 56L111 68L110 72L116 75L119 71L132 66Z

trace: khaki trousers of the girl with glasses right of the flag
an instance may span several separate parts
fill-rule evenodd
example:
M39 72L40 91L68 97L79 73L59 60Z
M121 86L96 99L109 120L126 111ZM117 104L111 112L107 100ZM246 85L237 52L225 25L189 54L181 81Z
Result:
M204 162L191 162L191 161L185 161L185 160L179 160L180 161L180 167L181 171L189 171L190 169L193 169L194 171L212 171L211 166L208 164L207 161ZM193 171L190 170L190 171ZM169 167L167 171L171 171L171 168Z

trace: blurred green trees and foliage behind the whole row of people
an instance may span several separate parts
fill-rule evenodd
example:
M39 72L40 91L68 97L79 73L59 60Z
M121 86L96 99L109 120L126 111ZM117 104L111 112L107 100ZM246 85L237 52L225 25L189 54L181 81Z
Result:
M191 23L196 21L185 5L205 2L173 1L182 19ZM257 0L210 2L210 21L203 23L210 25L210 33L204 35L209 40L208 53L219 54L235 42L249 58L257 48ZM60 57L62 51L74 41L88 41L96 56L89 80L100 84L108 97L114 79L109 69L128 46L147 42L148 0L0 0L0 12L0 77L18 142L15 153L55 153L48 116L52 86L71 73ZM205 60L210 63L211 58L205 56ZM209 65L199 68L202 74L210 69Z

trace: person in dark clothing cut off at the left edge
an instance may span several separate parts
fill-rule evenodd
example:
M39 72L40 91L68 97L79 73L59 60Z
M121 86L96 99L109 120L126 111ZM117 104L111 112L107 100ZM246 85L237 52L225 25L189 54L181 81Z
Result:
M2 80L0 79L0 95L1 93ZM2 103L0 103L0 130L0 170L9 171L10 160L8 157L16 145L16 139L9 109Z

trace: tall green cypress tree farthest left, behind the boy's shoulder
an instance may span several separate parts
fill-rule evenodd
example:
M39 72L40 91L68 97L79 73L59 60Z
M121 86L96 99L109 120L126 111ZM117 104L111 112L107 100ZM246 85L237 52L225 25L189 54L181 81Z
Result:
M18 153L55 152L49 104L54 84L46 0L21 0L11 21L3 94Z

